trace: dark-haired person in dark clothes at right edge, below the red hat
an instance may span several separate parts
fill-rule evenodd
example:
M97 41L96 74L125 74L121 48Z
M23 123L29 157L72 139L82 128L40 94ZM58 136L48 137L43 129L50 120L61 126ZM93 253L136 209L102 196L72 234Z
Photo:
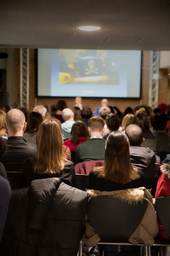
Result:
M153 127L153 135L156 140L156 148L159 152L170 153L170 141L167 133L164 131L167 123L165 113L156 113L150 117L150 122Z

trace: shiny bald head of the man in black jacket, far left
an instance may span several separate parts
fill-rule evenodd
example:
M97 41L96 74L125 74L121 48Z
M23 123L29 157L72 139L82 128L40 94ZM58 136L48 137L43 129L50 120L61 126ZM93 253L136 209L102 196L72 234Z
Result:
M25 122L25 116L19 109L11 109L7 112L5 118L5 125L8 132L17 133L22 131Z

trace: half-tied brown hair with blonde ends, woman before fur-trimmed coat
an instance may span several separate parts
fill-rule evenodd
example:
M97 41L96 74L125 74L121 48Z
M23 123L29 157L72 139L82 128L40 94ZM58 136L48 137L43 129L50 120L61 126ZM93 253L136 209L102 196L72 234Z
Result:
M93 170L98 178L105 178L119 184L126 184L139 178L137 169L130 162L129 142L124 133L115 131L109 134L105 146L104 166Z

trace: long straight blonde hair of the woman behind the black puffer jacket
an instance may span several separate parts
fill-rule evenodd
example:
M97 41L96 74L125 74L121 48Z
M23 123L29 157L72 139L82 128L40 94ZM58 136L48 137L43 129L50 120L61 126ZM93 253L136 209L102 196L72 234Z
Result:
M37 153L32 158L34 172L38 174L55 174L70 163L62 152L62 134L57 122L45 119L36 135Z

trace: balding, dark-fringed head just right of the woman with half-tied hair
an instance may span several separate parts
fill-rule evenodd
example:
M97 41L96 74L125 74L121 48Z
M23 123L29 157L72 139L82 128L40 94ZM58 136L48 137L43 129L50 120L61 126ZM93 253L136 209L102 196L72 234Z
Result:
M125 135L127 136L130 146L138 146L143 140L143 131L137 124L130 124L126 127Z

